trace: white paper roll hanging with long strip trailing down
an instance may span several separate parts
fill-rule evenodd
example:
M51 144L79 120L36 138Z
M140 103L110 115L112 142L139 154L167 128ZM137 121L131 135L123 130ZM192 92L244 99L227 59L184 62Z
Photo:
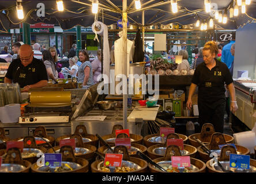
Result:
M108 43L108 28L102 22L92 24L93 33L103 36L103 74L108 76L108 81L104 79L104 83L109 83L110 79L110 45Z

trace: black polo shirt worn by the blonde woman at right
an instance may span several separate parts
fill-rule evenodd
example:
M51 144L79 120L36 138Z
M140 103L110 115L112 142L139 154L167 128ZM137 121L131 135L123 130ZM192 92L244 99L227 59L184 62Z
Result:
M205 63L198 65L192 83L198 85L198 98L203 101L225 99L225 87L234 82L225 63L216 60L216 66L209 70Z

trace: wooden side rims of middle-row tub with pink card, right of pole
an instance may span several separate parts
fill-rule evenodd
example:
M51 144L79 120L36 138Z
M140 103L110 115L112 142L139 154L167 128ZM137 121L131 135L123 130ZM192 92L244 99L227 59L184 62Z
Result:
M166 144L156 144L156 145L152 145L152 146L148 147L147 152L148 152L148 156L150 159L157 159L157 158L161 158L164 156L164 155L156 154L156 152L153 152L153 150L155 148L159 148L159 147L166 147ZM187 154L186 156L195 158L195 155L197 154L197 148L195 148L189 144L184 144L183 147L184 147L184 150L189 152L189 154Z

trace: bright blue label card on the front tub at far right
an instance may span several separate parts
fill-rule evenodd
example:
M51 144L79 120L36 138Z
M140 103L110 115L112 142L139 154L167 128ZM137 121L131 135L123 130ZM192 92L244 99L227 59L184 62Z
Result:
M250 169L250 155L230 154L229 167Z

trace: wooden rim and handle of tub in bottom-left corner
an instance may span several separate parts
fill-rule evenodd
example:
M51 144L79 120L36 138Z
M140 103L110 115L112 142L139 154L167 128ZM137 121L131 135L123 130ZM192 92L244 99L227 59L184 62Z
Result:
M10 148L7 151L5 159L3 159L3 163L21 164L22 166L25 166L23 170L18 171L17 173L29 173L31 168L30 162L28 162L27 160L22 160L21 152L20 150L18 150L18 148Z

